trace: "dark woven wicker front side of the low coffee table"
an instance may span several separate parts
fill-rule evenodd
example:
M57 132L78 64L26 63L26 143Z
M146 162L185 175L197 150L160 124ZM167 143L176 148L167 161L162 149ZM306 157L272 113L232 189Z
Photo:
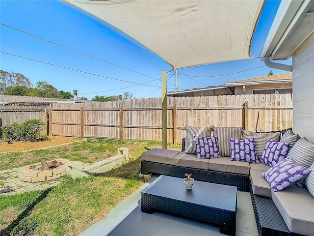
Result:
M222 210L175 199L164 198L152 194L141 193L143 212L154 211L175 214L184 218L202 221L219 226L220 233L235 235L236 211Z

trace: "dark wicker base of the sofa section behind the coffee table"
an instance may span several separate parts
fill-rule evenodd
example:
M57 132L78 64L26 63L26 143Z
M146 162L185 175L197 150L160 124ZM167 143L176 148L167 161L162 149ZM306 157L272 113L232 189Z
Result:
M172 177L184 177L185 173L192 173L195 180L236 186L239 191L249 192L249 176L247 175L173 166L150 161L141 162L141 173L144 175L155 173Z

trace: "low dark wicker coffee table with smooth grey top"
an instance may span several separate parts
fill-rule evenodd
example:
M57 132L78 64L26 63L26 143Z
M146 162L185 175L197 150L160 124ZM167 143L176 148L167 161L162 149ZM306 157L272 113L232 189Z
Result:
M194 181L186 190L183 178L159 176L141 192L143 212L178 215L220 228L220 233L235 235L237 187Z

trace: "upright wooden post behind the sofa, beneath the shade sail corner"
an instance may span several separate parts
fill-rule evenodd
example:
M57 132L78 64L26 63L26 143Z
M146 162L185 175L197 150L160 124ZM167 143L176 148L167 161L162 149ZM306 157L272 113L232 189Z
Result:
M167 72L161 72L161 144L167 149Z

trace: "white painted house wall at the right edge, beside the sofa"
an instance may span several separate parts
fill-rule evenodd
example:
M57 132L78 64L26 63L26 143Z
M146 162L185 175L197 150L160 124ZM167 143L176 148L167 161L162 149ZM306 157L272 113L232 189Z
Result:
M293 132L314 142L314 36L292 56Z

